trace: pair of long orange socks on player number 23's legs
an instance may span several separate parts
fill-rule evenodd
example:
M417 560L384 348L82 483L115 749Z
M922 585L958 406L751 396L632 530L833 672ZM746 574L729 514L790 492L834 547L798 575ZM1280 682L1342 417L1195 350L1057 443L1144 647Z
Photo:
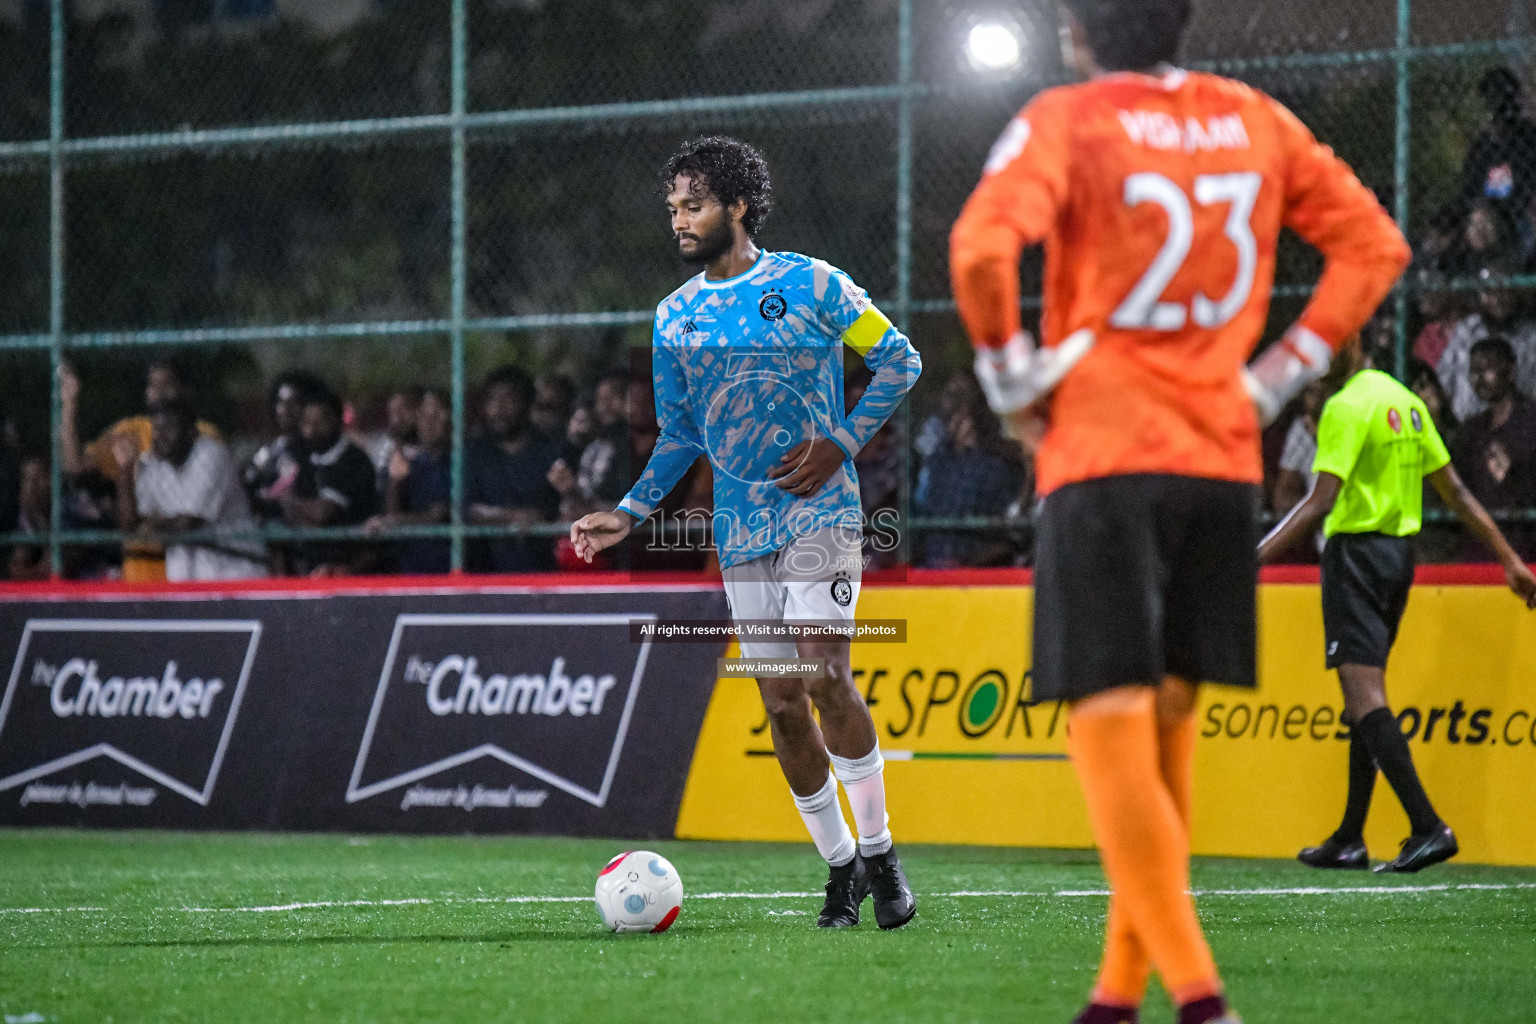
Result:
M1069 749L1111 898L1094 999L1137 1006L1149 961L1177 1003L1221 992L1189 887L1195 720L1158 726L1152 688L1101 694L1072 711Z

